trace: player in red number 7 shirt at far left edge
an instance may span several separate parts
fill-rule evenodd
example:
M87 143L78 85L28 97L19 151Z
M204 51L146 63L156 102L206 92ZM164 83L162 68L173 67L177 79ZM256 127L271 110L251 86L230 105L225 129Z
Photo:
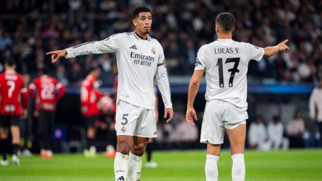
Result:
M27 116L27 89L24 88L22 77L16 73L16 63L8 59L4 64L5 72L0 74L0 149L2 160L0 164L9 164L7 152L10 147L8 141L8 128L12 135L13 156L12 162L19 166L20 160L17 155L20 144L20 116L25 119ZM23 108L20 103L20 93L22 93Z

